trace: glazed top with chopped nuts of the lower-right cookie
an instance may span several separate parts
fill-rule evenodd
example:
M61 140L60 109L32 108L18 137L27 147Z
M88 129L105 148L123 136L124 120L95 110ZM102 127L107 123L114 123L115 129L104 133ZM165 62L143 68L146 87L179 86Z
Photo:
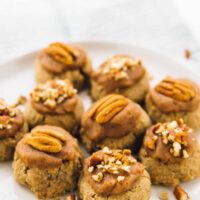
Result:
M179 162L189 158L196 148L196 137L182 119L157 123L144 137L148 155L162 162Z

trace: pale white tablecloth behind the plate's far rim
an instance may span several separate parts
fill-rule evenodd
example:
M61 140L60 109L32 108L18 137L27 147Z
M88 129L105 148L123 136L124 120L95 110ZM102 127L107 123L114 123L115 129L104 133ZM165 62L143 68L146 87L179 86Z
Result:
M52 41L107 40L178 60L198 44L170 0L2 0L0 62ZM187 61L192 70L198 58Z

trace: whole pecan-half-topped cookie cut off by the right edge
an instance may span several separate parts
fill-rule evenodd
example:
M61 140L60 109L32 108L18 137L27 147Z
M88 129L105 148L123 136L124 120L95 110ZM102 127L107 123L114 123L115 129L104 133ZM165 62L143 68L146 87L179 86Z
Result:
M146 97L146 109L154 122L183 118L192 128L200 127L200 89L186 79L166 77Z

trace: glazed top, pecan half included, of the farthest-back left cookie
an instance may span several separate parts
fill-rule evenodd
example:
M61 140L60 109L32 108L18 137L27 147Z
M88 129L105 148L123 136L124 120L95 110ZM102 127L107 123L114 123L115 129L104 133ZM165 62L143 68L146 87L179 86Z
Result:
M80 47L55 42L39 53L38 60L45 70L61 74L82 68L86 63L86 53Z

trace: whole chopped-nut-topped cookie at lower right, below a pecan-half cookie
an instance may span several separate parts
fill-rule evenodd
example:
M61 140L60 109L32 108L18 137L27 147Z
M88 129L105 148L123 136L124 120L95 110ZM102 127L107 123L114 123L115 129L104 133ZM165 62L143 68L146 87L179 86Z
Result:
M139 159L153 184L178 185L200 176L200 146L182 119L150 127Z

